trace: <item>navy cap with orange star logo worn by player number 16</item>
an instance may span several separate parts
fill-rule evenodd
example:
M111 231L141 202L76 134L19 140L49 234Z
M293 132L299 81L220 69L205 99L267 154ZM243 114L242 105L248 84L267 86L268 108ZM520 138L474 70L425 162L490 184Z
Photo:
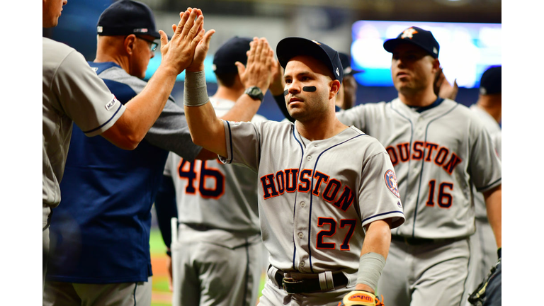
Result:
M418 27L407 28L406 30L403 30L397 38L385 40L385 42L383 42L383 48L387 50L387 52L392 53L399 43L406 42L421 47L421 49L429 53L431 57L438 58L440 45L438 45L433 33Z

